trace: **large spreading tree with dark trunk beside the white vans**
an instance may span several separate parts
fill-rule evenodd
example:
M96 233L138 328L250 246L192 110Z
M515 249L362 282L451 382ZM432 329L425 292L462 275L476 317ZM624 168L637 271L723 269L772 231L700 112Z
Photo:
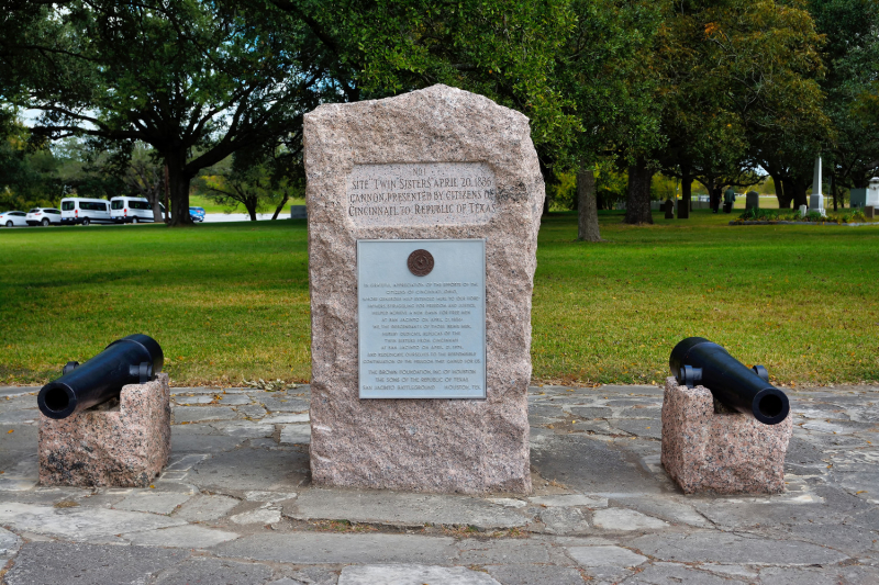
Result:
M171 225L190 224L190 181L233 153L299 133L332 91L302 23L233 1L24 0L37 24L0 47L4 95L41 110L34 133L152 146L167 167Z

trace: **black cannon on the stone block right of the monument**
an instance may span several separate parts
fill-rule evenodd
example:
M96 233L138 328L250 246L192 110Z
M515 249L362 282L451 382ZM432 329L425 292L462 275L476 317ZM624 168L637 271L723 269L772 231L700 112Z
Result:
M766 368L748 368L704 337L688 337L675 346L668 364L678 384L701 384L724 406L760 423L777 425L788 417L788 396L769 383Z

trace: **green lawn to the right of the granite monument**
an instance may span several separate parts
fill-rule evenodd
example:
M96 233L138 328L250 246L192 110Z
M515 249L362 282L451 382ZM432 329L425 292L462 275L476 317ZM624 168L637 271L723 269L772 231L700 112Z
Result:
M652 381L688 336L708 337L779 383L879 380L879 226L727 226L735 215L632 227L574 214L543 224L534 294L535 376Z

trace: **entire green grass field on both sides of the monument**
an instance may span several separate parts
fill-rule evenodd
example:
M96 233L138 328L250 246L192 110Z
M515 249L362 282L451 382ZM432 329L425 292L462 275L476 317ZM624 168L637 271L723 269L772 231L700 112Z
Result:
M631 227L602 244L544 218L534 378L659 381L701 335L776 381L879 380L879 226ZM154 336L175 384L309 379L304 221L0 230L0 384L43 383L121 336Z

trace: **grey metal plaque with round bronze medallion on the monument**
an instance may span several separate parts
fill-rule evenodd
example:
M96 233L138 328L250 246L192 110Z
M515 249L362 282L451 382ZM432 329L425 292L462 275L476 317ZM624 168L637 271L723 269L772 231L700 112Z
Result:
M360 398L486 397L483 239L358 240L357 295Z

